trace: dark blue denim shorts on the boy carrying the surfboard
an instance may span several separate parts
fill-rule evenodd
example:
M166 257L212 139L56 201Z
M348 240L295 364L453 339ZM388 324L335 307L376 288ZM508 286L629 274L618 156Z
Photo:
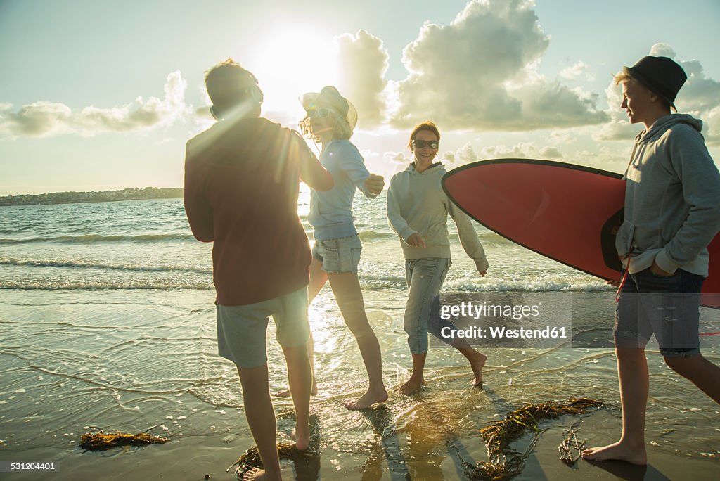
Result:
M620 348L644 348L654 334L665 357L700 354L700 290L705 278L678 269L630 274L620 292L613 336Z

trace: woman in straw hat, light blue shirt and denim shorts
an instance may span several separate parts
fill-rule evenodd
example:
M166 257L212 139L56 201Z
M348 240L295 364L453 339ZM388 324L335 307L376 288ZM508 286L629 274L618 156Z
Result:
M346 408L359 410L387 400L382 381L382 357L377 336L367 320L358 279L362 244L353 222L355 189L374 199L384 186L382 176L370 174L356 146L350 142L357 123L357 111L333 86L302 96L306 116L300 122L305 135L323 145L320 163L330 171L335 186L328 192L312 190L310 213L315 246L312 248L308 299L312 301L328 280L350 331L358 343L368 374L368 390ZM312 334L307 343L312 359ZM311 363L312 364L312 363ZM315 376L312 392L318 391ZM278 395L287 396L288 392Z

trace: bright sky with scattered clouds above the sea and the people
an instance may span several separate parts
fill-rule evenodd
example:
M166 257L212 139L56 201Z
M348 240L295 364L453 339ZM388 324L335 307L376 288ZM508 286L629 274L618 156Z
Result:
M424 120L449 169L624 171L642 127L612 76L665 55L717 163L719 23L716 0L0 0L0 195L181 186L185 143L213 122L204 71L228 57L288 127L298 97L337 86L359 112L352 141L389 177Z

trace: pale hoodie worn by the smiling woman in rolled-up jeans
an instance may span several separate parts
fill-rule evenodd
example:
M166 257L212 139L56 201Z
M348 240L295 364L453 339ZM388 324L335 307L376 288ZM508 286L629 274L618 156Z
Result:
M475 261L477 270L484 272L489 266L485 251L470 218L443 191L440 181L445 174L446 170L441 163L423 172L416 171L411 163L405 171L392 176L387 189L387 220L392 230L400 236L405 259L450 259L447 228L449 214L457 225L465 252ZM424 248L408 244L408 238L413 234L423 238Z

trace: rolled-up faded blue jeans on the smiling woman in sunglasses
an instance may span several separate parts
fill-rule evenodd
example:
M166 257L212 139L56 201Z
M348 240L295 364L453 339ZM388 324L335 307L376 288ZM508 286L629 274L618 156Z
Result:
M405 259L405 280L408 282L408 304L402 325L408 333L408 344L413 354L428 351L428 331L436 338L442 337L442 328L455 326L440 318L440 288L450 269L450 259Z

